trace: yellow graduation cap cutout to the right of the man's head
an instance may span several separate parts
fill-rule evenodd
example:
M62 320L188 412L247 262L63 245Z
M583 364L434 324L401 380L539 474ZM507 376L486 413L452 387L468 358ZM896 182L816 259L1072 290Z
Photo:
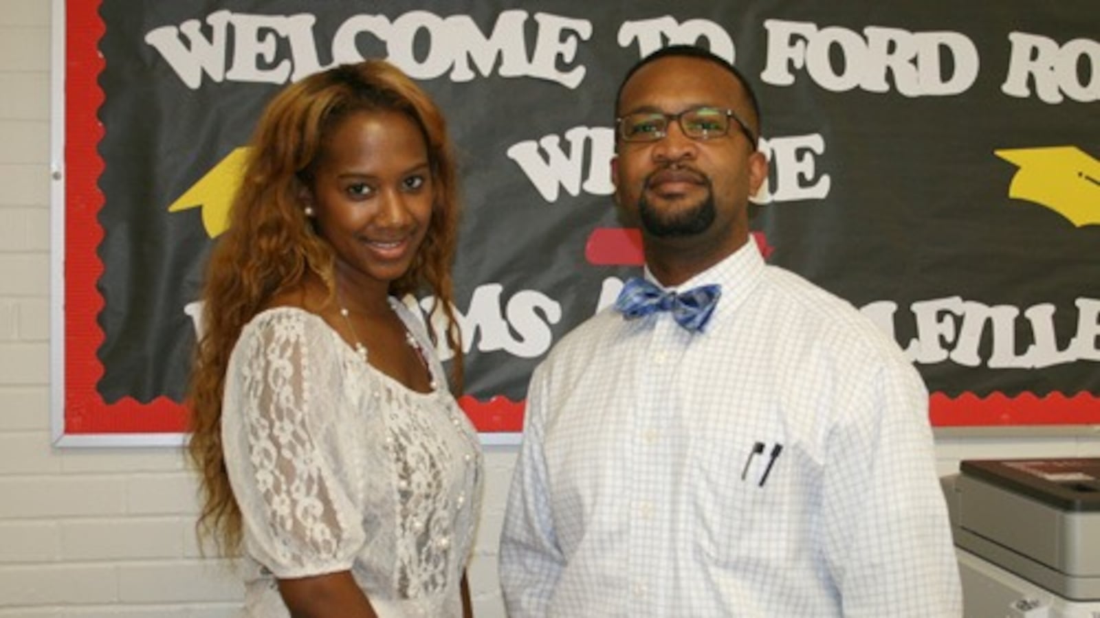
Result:
M993 154L1020 167L1009 185L1010 198L1045 206L1077 228L1100 224L1100 161L1076 146Z

